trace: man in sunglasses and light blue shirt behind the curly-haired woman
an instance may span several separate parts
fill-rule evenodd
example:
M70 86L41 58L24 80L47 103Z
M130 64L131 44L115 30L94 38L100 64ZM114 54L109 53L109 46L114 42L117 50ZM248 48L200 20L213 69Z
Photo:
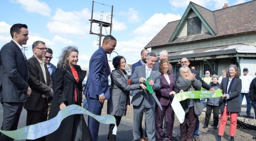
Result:
M54 66L51 62L52 60L52 49L48 48L46 55L44 57L44 63L46 64L48 71L50 72L51 75L51 79L52 79L52 89L53 89L53 82L54 82L54 77L55 77L55 70L56 70L56 66ZM48 114L50 112L50 108L52 105L52 99L53 99L54 94L52 94L50 97L48 97Z

